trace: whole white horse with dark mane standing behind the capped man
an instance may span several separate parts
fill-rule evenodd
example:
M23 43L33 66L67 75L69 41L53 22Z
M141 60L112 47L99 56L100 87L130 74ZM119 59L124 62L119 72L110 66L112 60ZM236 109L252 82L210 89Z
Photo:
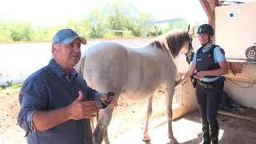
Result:
M152 100L155 90L166 91L166 113L170 143L178 143L172 131L172 98L177 68L174 63L179 52L192 58L192 38L186 31L173 31L156 38L148 46L131 49L114 42L102 42L90 47L82 54L76 69L78 74L94 90L112 91L115 98L148 98L146 126L143 141L149 142L148 125L152 114ZM106 128L110 124L114 106L107 106L98 114L94 130L94 142L110 143ZM105 133L105 134L104 134Z

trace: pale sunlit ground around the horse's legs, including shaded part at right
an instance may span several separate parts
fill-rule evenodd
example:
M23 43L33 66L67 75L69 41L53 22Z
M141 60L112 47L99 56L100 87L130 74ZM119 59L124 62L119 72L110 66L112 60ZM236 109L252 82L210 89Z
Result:
M118 99L118 107L108 127L112 144L166 144L167 122L165 95L159 91L154 94L153 114L150 118L149 134L151 141L142 142L143 126L146 116L146 100L129 101ZM25 144L25 132L17 125L19 110L18 95L6 92L0 94L0 143ZM254 110L256 118L256 110ZM218 115L221 127L220 144L255 144L255 122ZM173 122L174 137L182 144L195 144L202 138L198 110Z

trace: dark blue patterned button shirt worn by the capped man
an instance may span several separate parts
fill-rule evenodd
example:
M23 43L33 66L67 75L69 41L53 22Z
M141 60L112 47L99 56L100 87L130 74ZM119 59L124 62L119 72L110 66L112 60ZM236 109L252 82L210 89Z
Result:
M32 122L36 110L55 110L68 106L78 97L79 90L84 94L84 100L96 100L101 104L101 93L87 86L75 70L68 80L64 70L54 59L50 60L48 66L26 79L19 94L21 109L18 125L26 130L27 143L93 143L90 119L69 120L43 131L37 131Z

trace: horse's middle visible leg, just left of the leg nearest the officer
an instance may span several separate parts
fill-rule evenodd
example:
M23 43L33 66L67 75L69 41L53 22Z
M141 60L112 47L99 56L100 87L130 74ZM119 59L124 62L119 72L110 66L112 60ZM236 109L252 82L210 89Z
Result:
M148 134L148 126L150 122L150 116L152 114L152 102L154 95L150 95L150 98L147 99L147 112L146 112L146 124L143 131L143 141L150 142L150 136Z

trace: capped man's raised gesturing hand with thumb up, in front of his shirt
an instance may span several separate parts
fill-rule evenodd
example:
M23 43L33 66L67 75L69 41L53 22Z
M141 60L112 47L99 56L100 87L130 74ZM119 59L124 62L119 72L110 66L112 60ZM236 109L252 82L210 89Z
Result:
M70 119L79 120L83 118L93 118L98 113L97 103L94 101L83 102L82 91L78 92L78 98L74 100L67 109L69 110Z

